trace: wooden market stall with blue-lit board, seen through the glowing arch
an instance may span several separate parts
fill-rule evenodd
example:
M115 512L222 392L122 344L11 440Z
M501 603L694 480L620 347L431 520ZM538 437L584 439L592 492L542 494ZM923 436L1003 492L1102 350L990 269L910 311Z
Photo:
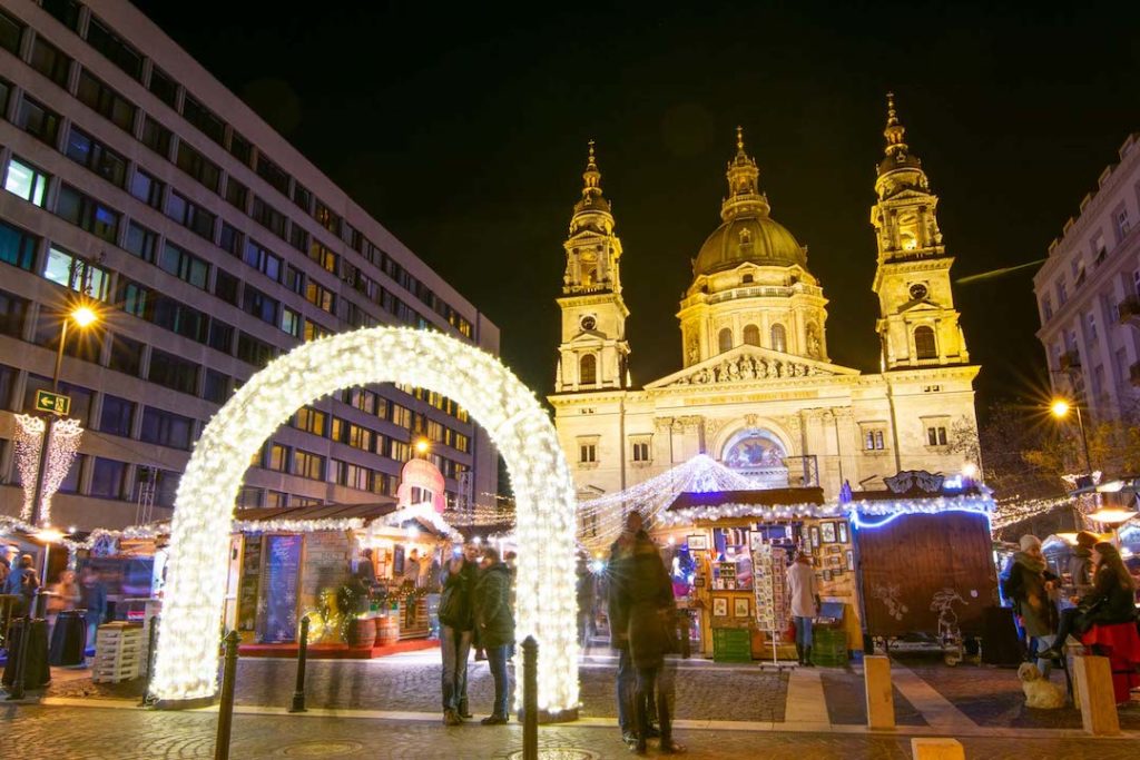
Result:
M227 627L249 655L295 648L302 616L312 656L370 657L426 640L438 569L462 540L430 505L244 509L231 541Z

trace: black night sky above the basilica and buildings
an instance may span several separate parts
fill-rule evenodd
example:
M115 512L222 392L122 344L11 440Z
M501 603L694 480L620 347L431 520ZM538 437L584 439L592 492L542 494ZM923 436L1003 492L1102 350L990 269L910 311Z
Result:
M830 299L832 360L864 371L885 92L940 196L955 277L1044 256L1140 130L1130 3L137 5L499 325L539 395L588 139L642 384L681 366L674 314L736 124ZM979 409L1043 382L1033 271L955 288Z

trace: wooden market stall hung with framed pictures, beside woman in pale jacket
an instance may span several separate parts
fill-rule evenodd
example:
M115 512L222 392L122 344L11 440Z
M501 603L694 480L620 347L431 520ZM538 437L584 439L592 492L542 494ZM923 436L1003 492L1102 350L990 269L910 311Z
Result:
M694 652L717 661L795 659L785 571L798 550L809 554L821 597L840 613L820 627L820 659L846 662L862 647L852 531L821 489L683 492L653 534L668 547Z

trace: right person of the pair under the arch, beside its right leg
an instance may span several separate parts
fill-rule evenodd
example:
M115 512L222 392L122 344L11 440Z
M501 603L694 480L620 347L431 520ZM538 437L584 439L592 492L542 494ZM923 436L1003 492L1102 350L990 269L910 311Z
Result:
M514 644L514 614L511 612L511 569L495 547L483 549L474 605L479 643L487 652L487 664L495 679L495 706L482 724L497 726L505 724L510 714L506 661Z

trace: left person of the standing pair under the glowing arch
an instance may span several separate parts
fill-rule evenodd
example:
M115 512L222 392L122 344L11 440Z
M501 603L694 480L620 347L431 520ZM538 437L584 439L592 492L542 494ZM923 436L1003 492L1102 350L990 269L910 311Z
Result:
M443 722L458 726L467 711L467 655L471 653L475 611L472 604L479 575L479 547L466 544L443 567L439 597L439 648L443 657Z

